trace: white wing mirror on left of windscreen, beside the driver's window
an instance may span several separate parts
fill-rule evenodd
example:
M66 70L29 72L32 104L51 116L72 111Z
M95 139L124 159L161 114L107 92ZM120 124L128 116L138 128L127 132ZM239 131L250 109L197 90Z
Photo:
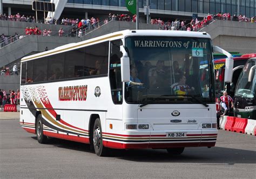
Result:
M120 51L123 53L123 57L121 57L121 78L122 82L129 82L130 81L130 58L124 46L120 46Z

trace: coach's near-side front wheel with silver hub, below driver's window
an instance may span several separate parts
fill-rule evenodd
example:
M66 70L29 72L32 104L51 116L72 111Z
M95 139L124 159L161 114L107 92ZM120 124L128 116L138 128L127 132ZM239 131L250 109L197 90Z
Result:
M93 147L94 147L96 155L98 155L98 156L106 155L107 149L103 146L102 126L100 125L99 118L97 118L95 120L95 123L93 126Z

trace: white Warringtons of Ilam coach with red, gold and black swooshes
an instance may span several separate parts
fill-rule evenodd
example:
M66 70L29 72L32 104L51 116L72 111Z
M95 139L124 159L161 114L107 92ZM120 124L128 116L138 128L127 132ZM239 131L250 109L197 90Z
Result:
M205 32L125 30L24 57L20 124L39 143L90 143L99 156L213 147L213 49L226 53Z

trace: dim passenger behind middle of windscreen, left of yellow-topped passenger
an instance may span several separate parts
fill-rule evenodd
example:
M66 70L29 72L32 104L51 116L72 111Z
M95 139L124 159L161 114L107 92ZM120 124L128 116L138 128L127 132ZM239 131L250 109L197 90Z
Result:
M166 72L164 68L164 61L158 60L156 67L153 67L149 70L148 76L149 76L150 87L163 85L165 74Z

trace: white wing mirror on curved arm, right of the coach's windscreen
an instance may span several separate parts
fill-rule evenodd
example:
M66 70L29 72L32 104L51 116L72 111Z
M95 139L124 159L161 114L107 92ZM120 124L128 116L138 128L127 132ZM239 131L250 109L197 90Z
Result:
M234 60L232 54L228 53L227 51L221 49L218 46L213 46L214 52L220 52L227 56L225 61L225 82L232 82L232 76L233 76L233 67L234 67Z

